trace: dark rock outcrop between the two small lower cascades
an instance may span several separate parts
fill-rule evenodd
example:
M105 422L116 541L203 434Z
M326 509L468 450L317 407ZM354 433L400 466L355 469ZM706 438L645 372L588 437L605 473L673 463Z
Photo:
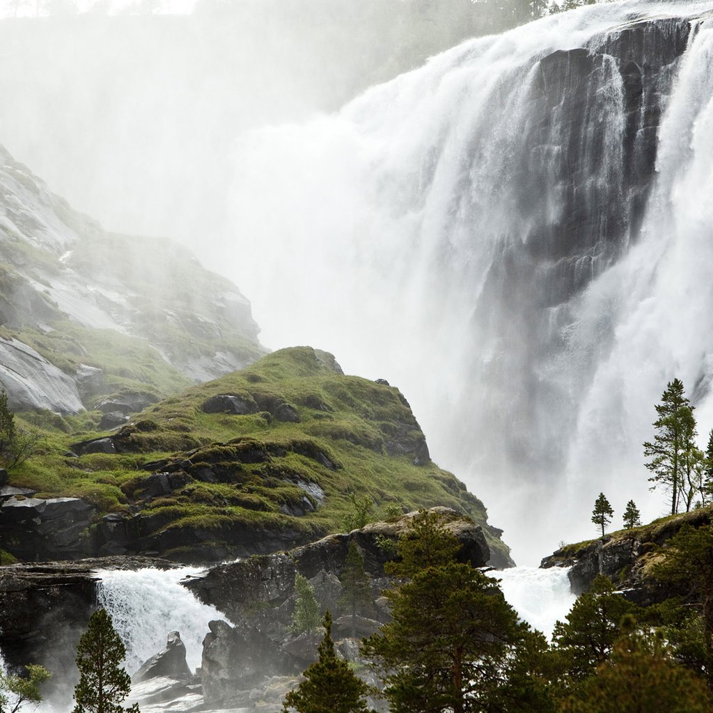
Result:
M437 513L443 526L460 540L461 560L476 567L486 565L490 551L480 525L448 508L432 508L431 512ZM210 634L203 642L206 704L252 706L259 710L256 702L262 701L268 710L266 701L270 699L268 690L273 679L287 676L294 682L294 676L315 660L321 633L295 635L290 630L297 573L309 580L320 610L332 612L334 635L342 655L363 663L359 660L358 638L374 633L390 618L388 607L381 601L381 591L392 584L384 574L384 564L394 558L396 540L409 530L416 514L330 535L289 553L217 565L205 575L185 582L202 602L214 605L232 622L210 622ZM364 558L371 579L371 601L359 603L354 620L339 580L350 543ZM240 597L236 596L238 592ZM354 639L350 638L352 629Z

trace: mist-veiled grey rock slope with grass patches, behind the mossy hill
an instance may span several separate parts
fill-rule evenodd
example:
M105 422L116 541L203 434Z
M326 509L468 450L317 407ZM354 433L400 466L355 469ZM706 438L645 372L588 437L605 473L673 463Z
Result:
M0 164L0 381L14 408L71 414L137 389L145 405L265 352L245 297L188 250L107 233L2 148Z

